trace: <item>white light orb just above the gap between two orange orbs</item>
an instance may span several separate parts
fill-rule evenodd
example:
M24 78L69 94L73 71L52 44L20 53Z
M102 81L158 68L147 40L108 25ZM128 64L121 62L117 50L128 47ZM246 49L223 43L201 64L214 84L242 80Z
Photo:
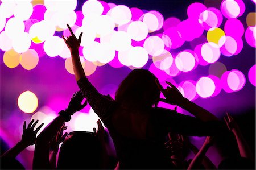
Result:
M27 32L22 32L13 39L13 49L16 52L22 53L27 51L31 46L30 35Z

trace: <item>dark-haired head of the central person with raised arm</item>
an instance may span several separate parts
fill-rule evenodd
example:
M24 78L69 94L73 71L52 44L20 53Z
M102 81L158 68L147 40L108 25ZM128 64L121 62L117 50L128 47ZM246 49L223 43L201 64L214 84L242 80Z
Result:
M134 69L119 85L115 101L129 106L151 107L158 103L160 97L155 80L150 71Z

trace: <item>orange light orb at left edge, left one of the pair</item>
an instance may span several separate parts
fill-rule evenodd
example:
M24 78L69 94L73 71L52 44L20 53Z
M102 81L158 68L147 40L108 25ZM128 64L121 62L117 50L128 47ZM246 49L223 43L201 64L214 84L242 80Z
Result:
M9 68L15 68L20 63L20 53L10 49L3 54L3 63Z

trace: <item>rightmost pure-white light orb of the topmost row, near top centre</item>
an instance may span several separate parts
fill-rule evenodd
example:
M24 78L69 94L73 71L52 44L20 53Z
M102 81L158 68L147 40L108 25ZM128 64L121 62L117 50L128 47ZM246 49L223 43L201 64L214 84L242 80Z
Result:
M111 9L110 16L117 25L123 25L131 20L131 10L125 5L117 5Z

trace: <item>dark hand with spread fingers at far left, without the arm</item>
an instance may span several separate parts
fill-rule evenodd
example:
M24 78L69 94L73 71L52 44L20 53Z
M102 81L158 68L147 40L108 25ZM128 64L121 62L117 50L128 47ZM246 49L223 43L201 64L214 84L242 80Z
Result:
M30 123L28 123L27 128L26 128L26 121L23 124L23 134L22 134L22 140L20 142L26 144L27 146L35 144L36 134L38 133L40 128L44 125L44 123L42 123L34 131L34 128L35 128L36 124L38 123L38 120L36 120L34 124L33 124L33 122L34 122L34 119L32 119L32 121Z

